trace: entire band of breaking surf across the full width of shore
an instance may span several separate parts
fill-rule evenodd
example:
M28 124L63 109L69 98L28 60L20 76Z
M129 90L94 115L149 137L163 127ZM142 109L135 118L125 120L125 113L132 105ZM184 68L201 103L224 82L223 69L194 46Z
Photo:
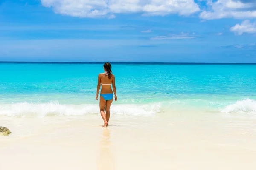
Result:
M166 102L152 102L139 104L116 104L111 105L111 114L117 115L154 115L156 113L182 112L219 112L222 113L256 113L256 101L244 99L230 104L227 101L204 101L204 100L173 100ZM19 102L12 104L0 104L0 116L76 116L87 114L99 114L99 104L60 104L53 102Z

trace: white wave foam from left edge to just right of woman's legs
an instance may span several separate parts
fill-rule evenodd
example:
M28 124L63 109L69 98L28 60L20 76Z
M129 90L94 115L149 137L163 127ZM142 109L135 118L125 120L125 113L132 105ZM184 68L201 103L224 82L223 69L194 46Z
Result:
M111 114L118 115L154 115L160 112L160 104L133 105L120 104L111 106ZM58 102L49 103L13 103L0 105L0 115L3 116L75 116L99 113L99 105L63 105Z

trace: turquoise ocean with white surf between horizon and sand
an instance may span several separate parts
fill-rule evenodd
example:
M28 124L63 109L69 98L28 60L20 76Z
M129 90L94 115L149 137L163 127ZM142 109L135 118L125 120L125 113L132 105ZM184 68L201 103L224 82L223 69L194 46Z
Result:
M256 65L111 63L112 114L256 114ZM103 63L0 62L0 116L99 113Z

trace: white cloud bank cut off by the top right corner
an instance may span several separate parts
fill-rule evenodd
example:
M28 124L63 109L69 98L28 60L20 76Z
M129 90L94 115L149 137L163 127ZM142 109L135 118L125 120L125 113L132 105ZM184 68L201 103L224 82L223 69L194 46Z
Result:
M200 14L204 20L256 17L256 2L253 0L208 0L207 5L211 10L202 11Z

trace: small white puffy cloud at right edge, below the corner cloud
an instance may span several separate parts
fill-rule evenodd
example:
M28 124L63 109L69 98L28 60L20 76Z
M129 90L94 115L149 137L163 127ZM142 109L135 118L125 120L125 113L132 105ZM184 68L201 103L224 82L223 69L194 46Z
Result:
M244 33L256 33L256 23L250 23L249 20L244 20L241 24L236 24L230 28L230 31L235 34L242 35Z

